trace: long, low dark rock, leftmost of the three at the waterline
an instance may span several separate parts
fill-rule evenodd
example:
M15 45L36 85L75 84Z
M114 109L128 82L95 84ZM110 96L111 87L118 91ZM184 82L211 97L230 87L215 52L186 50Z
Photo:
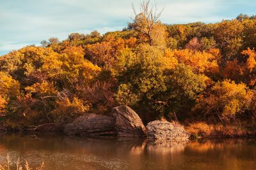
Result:
M116 135L115 119L94 113L76 118L65 126L64 132L79 136L113 136Z

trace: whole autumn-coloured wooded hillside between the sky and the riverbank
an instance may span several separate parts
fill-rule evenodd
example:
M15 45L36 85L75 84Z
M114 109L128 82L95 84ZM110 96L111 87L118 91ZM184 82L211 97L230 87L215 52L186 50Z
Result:
M127 104L145 123L255 125L256 17L166 25L148 5L123 31L73 33L3 55L2 124L65 124Z

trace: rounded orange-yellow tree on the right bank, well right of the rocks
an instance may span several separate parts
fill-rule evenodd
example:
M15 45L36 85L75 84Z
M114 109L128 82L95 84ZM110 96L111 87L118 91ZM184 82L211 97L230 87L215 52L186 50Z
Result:
M201 110L205 117L218 117L222 123L236 121L236 117L250 107L252 95L244 83L219 81L209 92L198 97L196 109Z

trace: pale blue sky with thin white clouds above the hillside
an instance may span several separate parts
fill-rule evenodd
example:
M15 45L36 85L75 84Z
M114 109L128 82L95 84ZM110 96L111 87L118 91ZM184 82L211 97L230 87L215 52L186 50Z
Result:
M43 39L66 39L68 34L104 34L122 30L134 17L138 0L0 0L0 55ZM214 23L236 18L240 13L256 15L255 0L152 0L164 11L165 24Z

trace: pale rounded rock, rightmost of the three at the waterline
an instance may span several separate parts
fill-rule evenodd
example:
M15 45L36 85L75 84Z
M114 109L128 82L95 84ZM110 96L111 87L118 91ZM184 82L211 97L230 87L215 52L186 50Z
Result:
M147 135L151 139L188 139L190 134L184 127L170 122L155 120L147 125Z

